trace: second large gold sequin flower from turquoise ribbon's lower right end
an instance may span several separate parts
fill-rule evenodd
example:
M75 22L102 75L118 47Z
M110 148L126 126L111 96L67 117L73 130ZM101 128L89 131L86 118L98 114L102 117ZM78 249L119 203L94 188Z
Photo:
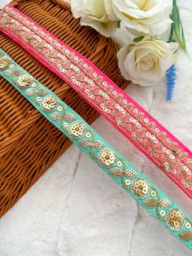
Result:
M146 179L136 179L132 184L132 192L139 198L145 198L150 192L150 185Z

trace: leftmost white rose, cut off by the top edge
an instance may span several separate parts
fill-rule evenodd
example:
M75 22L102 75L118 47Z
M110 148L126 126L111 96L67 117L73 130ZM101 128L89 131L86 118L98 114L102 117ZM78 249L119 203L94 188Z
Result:
M72 15L81 18L81 25L96 29L109 38L117 27L111 0L71 0Z

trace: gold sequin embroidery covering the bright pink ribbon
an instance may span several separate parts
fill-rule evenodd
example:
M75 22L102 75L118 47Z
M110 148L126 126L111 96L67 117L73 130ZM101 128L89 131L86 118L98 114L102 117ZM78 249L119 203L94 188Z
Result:
M145 117L145 113L139 112L133 103L129 103L127 99L124 99L124 95L118 94L113 89L113 86L104 82L104 77L98 76L94 72L94 68L85 64L84 60L79 59L74 52L69 51L65 46L49 38L49 35L43 34L40 28L34 26L33 23L28 23L28 20L25 20L24 17L9 7L6 7L5 11L21 22L21 24L15 24L14 20L9 19L9 15L2 13L2 24L4 24L5 29L10 28L13 33L21 31L24 41L33 45L37 52L42 49L46 51L46 57L52 64L62 63L62 65L58 64L61 73L67 73L68 77L72 78L72 82L79 86L80 90L85 88L85 94L89 99L95 99L95 103L103 108L104 113L111 113L111 117L116 120L119 129L123 130L164 172L169 176L174 174L175 178L172 177L172 179L177 183L177 180L181 179L184 190L185 188L192 190L192 177L189 170L189 168L192 169L192 160L187 158L187 152L182 152L180 148L177 148L176 142L167 138L165 131L155 128L155 121L149 121ZM29 29L33 29L39 36L29 29L28 33L26 33L22 23L26 24ZM46 39L49 43L46 42L45 45L40 46L37 42L42 42L41 38ZM53 51L54 47L60 51L58 54ZM28 93L32 94L33 90L28 91ZM110 99L109 95L114 97L116 101ZM92 103L95 104L94 101ZM59 118L59 114L57 117ZM56 115L54 116L54 118L57 117ZM111 118L109 119L111 120ZM111 121L114 121L114 119ZM130 132L131 135L129 135Z

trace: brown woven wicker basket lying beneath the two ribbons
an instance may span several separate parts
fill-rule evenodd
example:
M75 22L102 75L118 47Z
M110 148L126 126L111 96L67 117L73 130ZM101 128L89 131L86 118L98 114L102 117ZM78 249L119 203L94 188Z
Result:
M67 2L15 0L11 4L93 61L118 86L124 88L127 85L117 68L116 44L94 29L81 27L79 21L73 19ZM2 33L0 47L38 81L55 91L89 124L98 117L98 113L67 83ZM0 78L0 216L20 199L70 144L55 126Z

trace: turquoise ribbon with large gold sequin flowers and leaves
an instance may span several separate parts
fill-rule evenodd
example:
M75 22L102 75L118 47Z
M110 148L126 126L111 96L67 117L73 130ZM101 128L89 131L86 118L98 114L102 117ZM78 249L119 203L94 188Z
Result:
M81 148L111 179L192 249L192 219L112 148L72 108L16 64L2 49L0 75L19 90L20 94L48 121Z

